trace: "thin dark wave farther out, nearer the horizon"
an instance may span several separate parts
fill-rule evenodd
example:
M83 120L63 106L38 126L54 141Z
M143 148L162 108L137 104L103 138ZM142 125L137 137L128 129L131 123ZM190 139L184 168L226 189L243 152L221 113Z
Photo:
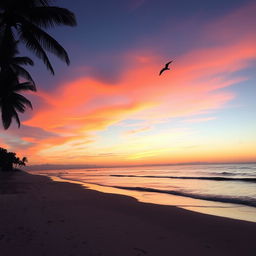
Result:
M213 181L242 181L256 183L256 178L231 178L231 177L196 177L196 176L158 176L158 175L122 175L112 174L111 177L132 177L132 178L159 178L159 179L182 179L182 180L213 180Z

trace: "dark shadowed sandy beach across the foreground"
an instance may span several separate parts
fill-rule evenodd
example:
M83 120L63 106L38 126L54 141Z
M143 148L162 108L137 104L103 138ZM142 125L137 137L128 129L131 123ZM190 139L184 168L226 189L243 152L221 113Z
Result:
M25 172L0 174L1 256L243 255L256 223L141 203Z

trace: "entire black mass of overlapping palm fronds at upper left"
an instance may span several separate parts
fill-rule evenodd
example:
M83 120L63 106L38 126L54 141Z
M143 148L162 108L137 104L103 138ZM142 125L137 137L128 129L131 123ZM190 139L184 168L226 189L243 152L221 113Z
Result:
M65 8L51 5L51 0L1 0L0 2L0 109L4 129L12 120L20 127L19 113L31 102L20 93L36 91L36 85L24 66L33 66L28 57L19 56L23 43L46 68L54 74L47 55L51 52L70 63L65 49L45 29L55 26L75 26L75 15Z

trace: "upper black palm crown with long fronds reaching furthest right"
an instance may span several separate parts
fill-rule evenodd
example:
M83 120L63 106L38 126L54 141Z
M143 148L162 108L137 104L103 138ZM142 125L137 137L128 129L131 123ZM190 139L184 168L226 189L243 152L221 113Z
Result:
M75 26L76 19L69 10L50 6L50 2L50 0L1 0L0 28L2 34L9 33L13 41L18 37L54 74L46 51L55 54L67 64L70 60L65 49L44 29L57 25Z

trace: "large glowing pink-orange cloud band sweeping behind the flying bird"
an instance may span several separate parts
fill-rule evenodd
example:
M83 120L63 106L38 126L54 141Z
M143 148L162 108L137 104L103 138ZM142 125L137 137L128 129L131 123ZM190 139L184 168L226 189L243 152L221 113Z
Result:
M60 85L51 94L39 92L47 104L24 123L61 136L41 143L43 148L89 136L127 118L161 121L223 108L235 95L219 89L246 79L230 74L256 57L254 43L245 40L190 52L161 77L158 56L137 55L115 86L85 77Z

